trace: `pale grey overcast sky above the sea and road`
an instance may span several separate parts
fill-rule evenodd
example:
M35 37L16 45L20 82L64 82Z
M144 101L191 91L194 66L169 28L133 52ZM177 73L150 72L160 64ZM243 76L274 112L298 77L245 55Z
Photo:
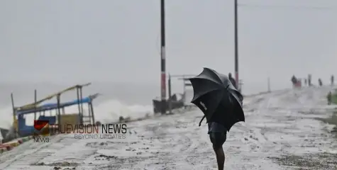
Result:
M337 75L337 1L239 4L247 5L238 9L246 84ZM166 8L167 72L234 72L233 1L167 0ZM160 84L159 0L0 0L0 21L1 81Z

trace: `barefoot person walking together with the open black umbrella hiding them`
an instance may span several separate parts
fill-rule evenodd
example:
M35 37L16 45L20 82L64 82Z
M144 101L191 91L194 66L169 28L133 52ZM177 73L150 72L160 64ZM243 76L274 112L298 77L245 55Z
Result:
M231 73L227 77L213 69L204 68L201 74L189 80L194 89L194 97L191 102L204 112L199 126L206 118L209 128L207 133L216 154L218 169L223 170L225 154L222 146L226 142L227 132L235 123L245 121L242 108L243 96L236 89L237 82L231 77ZM216 88L209 86L209 81L215 82L218 86ZM209 93L205 94L205 91L209 91Z

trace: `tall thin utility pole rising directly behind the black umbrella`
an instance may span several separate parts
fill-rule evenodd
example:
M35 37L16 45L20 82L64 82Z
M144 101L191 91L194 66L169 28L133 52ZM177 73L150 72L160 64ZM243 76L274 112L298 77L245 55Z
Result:
M238 85L238 0L234 0L234 47L235 47L235 74L236 74L236 89Z

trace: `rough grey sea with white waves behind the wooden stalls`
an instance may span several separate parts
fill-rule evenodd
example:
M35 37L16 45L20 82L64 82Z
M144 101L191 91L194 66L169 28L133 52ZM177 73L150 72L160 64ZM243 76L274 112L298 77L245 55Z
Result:
M86 84L87 82L82 82ZM79 83L81 84L81 83ZM11 105L11 94L13 94L14 106L23 106L34 102L34 90L37 91L37 99L44 98L50 94L61 91L74 84L60 84L51 82L20 83L1 82L0 83L0 128L9 128L13 123L13 109ZM250 87L250 88L248 88ZM254 88L255 87L255 88ZM183 92L182 82L172 83L172 94ZM245 86L244 94L254 94L267 91L267 86ZM93 102L95 119L101 123L116 122L120 116L124 118L143 118L153 115L153 98L160 96L160 86L152 84L133 84L116 82L93 82L90 86L84 87L83 97L90 94L99 93L100 96ZM186 89L186 101L191 101L193 96L192 88ZM61 102L73 101L77 99L76 91L68 91L61 96ZM56 103L56 98L45 103ZM88 108L84 106L84 114ZM65 109L66 113L78 113L77 106L70 106ZM55 114L52 112L45 113ZM33 125L33 114L25 115L26 125Z

